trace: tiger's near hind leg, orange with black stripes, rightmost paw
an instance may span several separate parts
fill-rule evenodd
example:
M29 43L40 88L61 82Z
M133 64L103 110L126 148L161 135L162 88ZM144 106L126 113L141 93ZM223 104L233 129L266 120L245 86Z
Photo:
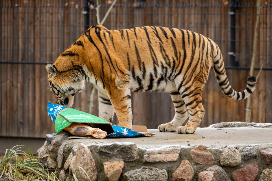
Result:
M182 87L181 95L184 99L185 106L188 109L189 120L185 126L179 126L177 133L191 134L201 123L204 117L204 107L201 103L202 89L204 85L191 85L189 87Z

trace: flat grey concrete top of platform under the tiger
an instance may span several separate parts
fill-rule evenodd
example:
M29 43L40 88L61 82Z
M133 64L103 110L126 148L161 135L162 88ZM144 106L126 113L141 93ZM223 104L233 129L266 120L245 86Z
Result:
M193 134L160 132L148 129L154 136L137 138L76 139L80 143L113 143L116 141L134 142L137 146L187 146L192 145L259 145L272 144L272 128L238 127L238 128L197 128ZM204 137L204 138L202 138Z

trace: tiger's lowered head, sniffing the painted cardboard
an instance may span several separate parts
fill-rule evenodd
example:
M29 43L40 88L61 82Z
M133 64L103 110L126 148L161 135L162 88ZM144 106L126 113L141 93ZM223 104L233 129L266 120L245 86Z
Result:
M50 90L60 105L71 107L74 95L85 86L84 65L78 53L63 52L54 64L46 65Z

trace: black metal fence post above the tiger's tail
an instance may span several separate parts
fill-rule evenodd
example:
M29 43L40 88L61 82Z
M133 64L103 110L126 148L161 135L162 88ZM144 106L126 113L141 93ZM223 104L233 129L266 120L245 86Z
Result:
M231 0L230 7L230 51L229 51L229 61L230 66L238 66L235 62L235 5L236 0Z

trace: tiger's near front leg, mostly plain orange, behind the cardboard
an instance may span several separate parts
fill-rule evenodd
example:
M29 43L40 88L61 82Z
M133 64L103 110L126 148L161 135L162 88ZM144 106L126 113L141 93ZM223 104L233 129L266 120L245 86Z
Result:
M110 100L119 120L118 126L132 128L131 91L128 81L117 81L111 87Z

